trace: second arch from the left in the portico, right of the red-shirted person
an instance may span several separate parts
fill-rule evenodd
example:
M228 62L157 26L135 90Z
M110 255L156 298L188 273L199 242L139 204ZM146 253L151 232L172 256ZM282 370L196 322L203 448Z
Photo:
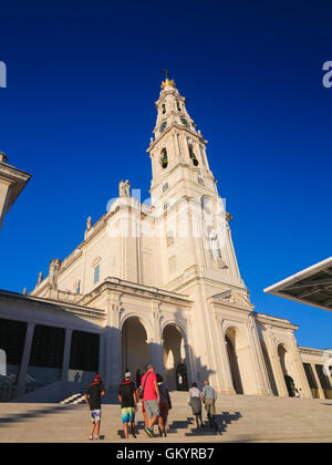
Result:
M187 390L188 375L183 334L175 324L167 324L163 331L163 341L165 381L172 391ZM179 381L183 381L181 385Z

